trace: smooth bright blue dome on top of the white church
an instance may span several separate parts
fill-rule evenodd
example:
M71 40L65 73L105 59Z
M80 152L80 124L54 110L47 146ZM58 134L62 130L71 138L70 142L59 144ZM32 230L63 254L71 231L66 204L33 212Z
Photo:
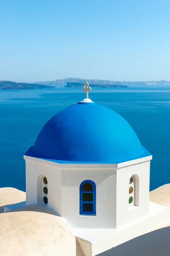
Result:
M26 153L58 163L121 163L145 154L128 122L94 102L79 102L54 115Z

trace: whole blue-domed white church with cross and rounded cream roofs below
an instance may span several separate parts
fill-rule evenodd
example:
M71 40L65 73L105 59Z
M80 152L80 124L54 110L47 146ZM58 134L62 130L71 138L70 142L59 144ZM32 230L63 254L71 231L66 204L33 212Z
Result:
M83 91L24 154L26 193L0 189L3 237L14 234L0 242L13 251L20 241L18 254L3 255L121 255L107 252L169 226L170 187L149 190L152 155L122 116L88 98L87 82Z

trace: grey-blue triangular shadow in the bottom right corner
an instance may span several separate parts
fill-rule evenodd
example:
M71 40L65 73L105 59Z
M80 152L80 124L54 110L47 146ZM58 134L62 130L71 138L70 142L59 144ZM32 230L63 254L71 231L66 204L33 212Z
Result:
M170 227L136 237L97 256L170 256Z

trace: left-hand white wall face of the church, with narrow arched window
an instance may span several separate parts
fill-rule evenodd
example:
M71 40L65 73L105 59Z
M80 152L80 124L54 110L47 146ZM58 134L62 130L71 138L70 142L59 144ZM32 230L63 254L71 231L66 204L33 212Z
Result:
M26 157L26 204L42 203L41 177L48 181L48 207L61 215L61 171L49 165L48 161L37 161L36 158ZM45 186L45 185L44 185ZM41 198L41 200L40 200Z

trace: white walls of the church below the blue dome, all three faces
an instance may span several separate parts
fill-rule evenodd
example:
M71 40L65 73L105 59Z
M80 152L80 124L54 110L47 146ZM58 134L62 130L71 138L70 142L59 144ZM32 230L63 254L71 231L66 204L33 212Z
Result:
M40 178L48 180L48 207L65 218L71 227L116 228L149 212L150 160L146 157L117 165L58 164L26 157L26 204L40 201ZM134 186L136 202L129 204L129 180L139 177ZM96 183L96 215L79 214L79 186L84 180ZM136 186L136 188L135 188ZM137 189L137 190L136 190ZM38 192L37 192L38 191Z

